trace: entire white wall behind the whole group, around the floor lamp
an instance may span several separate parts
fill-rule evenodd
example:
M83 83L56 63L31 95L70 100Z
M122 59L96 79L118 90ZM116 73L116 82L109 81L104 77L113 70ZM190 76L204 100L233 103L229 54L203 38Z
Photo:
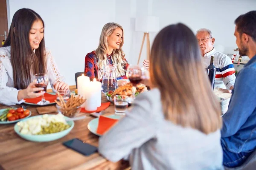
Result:
M256 0L9 0L10 16L20 8L31 8L45 22L46 46L52 50L58 68L67 83L75 84L75 72L84 70L84 57L97 48L105 23L123 26L123 50L131 64L137 63L142 32L135 32L135 17L152 14L160 17L160 29L182 22L196 32L212 30L215 45L224 53L233 53L234 20L256 9ZM152 7L152 8L151 8ZM152 44L157 33L150 33ZM141 62L145 59L145 46ZM217 49L218 50L218 49Z

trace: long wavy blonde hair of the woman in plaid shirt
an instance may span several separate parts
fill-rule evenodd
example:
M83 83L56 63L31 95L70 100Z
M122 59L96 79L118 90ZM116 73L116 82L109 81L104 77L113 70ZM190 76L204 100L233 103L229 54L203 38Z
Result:
M98 68L99 70L103 68L103 66L107 65L107 51L108 51L108 42L107 38L113 34L116 28L121 28L124 34L122 26L117 23L107 23L103 28L99 37L99 47L96 49L96 55L98 57ZM113 49L112 61L114 64L117 64L117 77L121 77L125 75L125 70L123 67L126 64L124 60L125 54L122 51L122 45L124 44L124 35L122 37L122 42L120 44L119 49Z

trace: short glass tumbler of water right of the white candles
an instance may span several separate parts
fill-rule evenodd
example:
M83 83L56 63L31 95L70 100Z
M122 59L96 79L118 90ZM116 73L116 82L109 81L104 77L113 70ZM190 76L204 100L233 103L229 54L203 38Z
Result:
M114 96L115 114L116 115L125 115L125 111L128 108L127 99L128 99L128 96L125 96L125 95Z

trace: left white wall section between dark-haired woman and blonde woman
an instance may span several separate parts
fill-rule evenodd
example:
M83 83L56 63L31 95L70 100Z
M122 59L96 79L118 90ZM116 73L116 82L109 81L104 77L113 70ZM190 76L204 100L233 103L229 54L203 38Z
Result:
M11 20L20 8L36 11L45 23L45 44L61 74L75 85L84 57L95 50L105 23L115 20L115 0L9 0Z

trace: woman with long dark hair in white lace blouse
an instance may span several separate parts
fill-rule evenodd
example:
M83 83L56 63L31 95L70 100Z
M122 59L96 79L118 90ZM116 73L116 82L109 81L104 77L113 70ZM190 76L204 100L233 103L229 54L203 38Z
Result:
M67 90L51 51L44 45L44 21L33 10L15 12L8 37L0 48L0 103L16 104L44 94L32 77L45 73L55 90Z

